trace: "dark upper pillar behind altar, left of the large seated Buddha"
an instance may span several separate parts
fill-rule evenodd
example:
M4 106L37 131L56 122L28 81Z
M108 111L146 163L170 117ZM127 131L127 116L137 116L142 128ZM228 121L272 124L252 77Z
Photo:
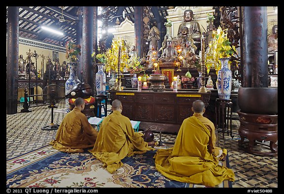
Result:
M143 6L134 7L135 47L139 57L143 57Z

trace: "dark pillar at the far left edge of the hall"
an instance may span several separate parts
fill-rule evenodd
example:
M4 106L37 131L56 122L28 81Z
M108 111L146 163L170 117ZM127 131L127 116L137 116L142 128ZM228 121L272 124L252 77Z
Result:
M17 113L19 63L19 7L8 7L6 59L6 113Z

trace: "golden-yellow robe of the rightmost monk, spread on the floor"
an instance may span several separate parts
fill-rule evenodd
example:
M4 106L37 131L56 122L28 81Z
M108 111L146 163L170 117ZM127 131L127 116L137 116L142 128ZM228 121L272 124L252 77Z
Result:
M171 180L209 187L224 180L235 181L231 169L218 165L215 155L220 148L214 148L214 143L213 123L201 114L194 114L183 120L174 147L157 151L156 169Z

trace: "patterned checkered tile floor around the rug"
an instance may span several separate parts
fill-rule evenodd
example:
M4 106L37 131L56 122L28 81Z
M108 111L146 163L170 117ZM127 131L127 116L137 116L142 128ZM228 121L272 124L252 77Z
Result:
M66 113L65 101L56 104L53 123L60 124ZM32 112L21 113L22 104L18 104L18 113L6 115L6 159L24 154L49 144L55 138L57 130L41 130L51 123L51 109L48 106L30 108ZM239 120L233 120L233 132L237 133ZM164 142L174 142L175 135L162 134ZM235 172L236 181L233 188L277 188L278 187L278 156L267 157L251 155L238 147L239 136L218 135L218 146L226 148L230 166ZM159 141L159 135L155 135ZM259 148L264 149L264 148Z

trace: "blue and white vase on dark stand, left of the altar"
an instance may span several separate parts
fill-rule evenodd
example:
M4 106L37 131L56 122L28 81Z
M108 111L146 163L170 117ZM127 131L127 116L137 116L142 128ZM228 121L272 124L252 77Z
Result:
M98 72L96 73L96 91L97 95L106 94L106 73L103 70L105 64L97 63Z

